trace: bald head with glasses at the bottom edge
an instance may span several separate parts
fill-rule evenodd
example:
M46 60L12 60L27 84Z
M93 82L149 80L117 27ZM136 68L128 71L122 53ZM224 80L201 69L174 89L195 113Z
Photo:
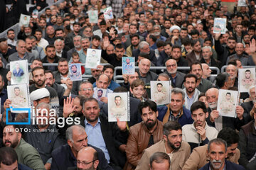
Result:
M78 169L97 169L99 164L97 151L92 147L84 147L80 149L77 162ZM82 164L82 162L86 162L86 164Z

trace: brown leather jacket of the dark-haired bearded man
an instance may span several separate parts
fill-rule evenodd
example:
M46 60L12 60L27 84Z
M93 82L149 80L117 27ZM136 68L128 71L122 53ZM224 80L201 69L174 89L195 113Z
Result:
M154 144L163 139L163 123L157 120L156 130L153 132ZM142 152L148 147L151 134L146 128L144 122L133 125L129 130L129 137L127 141L127 163L126 170L135 169L139 160L142 158Z

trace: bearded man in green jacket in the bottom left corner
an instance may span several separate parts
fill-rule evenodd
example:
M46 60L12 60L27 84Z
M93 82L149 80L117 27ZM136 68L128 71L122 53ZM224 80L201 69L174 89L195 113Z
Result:
M15 149L20 164L24 164L31 169L45 169L40 154L21 137L18 125L5 125L3 142L5 147Z

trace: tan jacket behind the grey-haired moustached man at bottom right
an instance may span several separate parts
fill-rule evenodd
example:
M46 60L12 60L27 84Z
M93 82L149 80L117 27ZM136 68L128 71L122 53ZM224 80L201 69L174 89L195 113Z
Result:
M201 147L196 147L193 149L191 156L188 158L184 164L182 170L197 170L201 169L205 164L208 164L210 159L207 157L207 147L208 145L203 145ZM238 159L240 158L240 150L235 149L235 154L233 157L229 157L227 160L238 164Z

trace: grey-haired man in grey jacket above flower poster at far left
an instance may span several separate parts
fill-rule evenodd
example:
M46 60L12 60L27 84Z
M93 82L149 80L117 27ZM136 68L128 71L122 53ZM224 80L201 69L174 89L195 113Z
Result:
M26 52L26 42L23 40L17 41L16 50L17 52L14 52L14 54L9 56L9 62L13 62L16 60L28 60L28 63L31 63L35 58L31 53Z

